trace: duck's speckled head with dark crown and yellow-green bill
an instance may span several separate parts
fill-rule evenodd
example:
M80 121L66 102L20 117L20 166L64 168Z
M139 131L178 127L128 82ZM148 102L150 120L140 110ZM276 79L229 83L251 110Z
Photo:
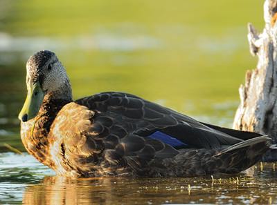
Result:
M69 84L66 70L54 52L41 50L31 56L26 64L28 95L19 113L21 121L33 119L39 112L44 97L57 93Z

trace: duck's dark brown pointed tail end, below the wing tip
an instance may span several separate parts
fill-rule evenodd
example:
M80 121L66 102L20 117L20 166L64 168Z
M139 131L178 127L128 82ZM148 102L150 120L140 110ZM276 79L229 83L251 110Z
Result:
M215 160L217 172L238 173L259 162L271 145L271 139L267 135L247 139L221 150L213 155L210 162ZM211 166L207 164L207 167L209 169ZM214 172L215 170L208 170L208 173Z

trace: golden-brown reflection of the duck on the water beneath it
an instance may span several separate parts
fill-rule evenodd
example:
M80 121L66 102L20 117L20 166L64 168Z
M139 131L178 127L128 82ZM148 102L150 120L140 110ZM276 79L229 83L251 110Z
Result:
M22 204L192 204L193 202L245 204L249 199L254 199L254 204L267 204L266 196L276 192L261 184L268 184L268 179L274 179L276 173L271 166L265 164L262 175L257 168L254 168L256 170L254 177L232 175L238 177L238 180L230 179L230 176L225 174L214 175L216 179L213 181L210 176L159 179L144 177L73 179L46 176L42 182L26 186ZM190 184L189 190L188 184ZM271 182L271 186L276 186L276 183ZM272 197L272 202L276 204L275 196Z

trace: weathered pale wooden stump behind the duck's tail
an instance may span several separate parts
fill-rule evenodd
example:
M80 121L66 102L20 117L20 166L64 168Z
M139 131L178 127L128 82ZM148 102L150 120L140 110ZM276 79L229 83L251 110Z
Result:
M248 26L250 52L258 56L255 70L248 70L240 86L240 106L233 128L269 134L277 141L277 0L266 0L265 28L258 35ZM277 157L277 156L276 156Z

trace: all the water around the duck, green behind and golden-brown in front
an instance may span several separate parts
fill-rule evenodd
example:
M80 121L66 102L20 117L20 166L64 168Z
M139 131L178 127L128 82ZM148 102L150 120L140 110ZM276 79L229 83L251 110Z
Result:
M262 1L0 0L0 204L272 204L272 164L253 175L193 179L59 179L24 151L17 115L25 64L56 52L75 99L130 92L199 120L231 127L249 55L246 25L263 27ZM234 177L234 176L232 176ZM188 193L188 184L191 191Z

